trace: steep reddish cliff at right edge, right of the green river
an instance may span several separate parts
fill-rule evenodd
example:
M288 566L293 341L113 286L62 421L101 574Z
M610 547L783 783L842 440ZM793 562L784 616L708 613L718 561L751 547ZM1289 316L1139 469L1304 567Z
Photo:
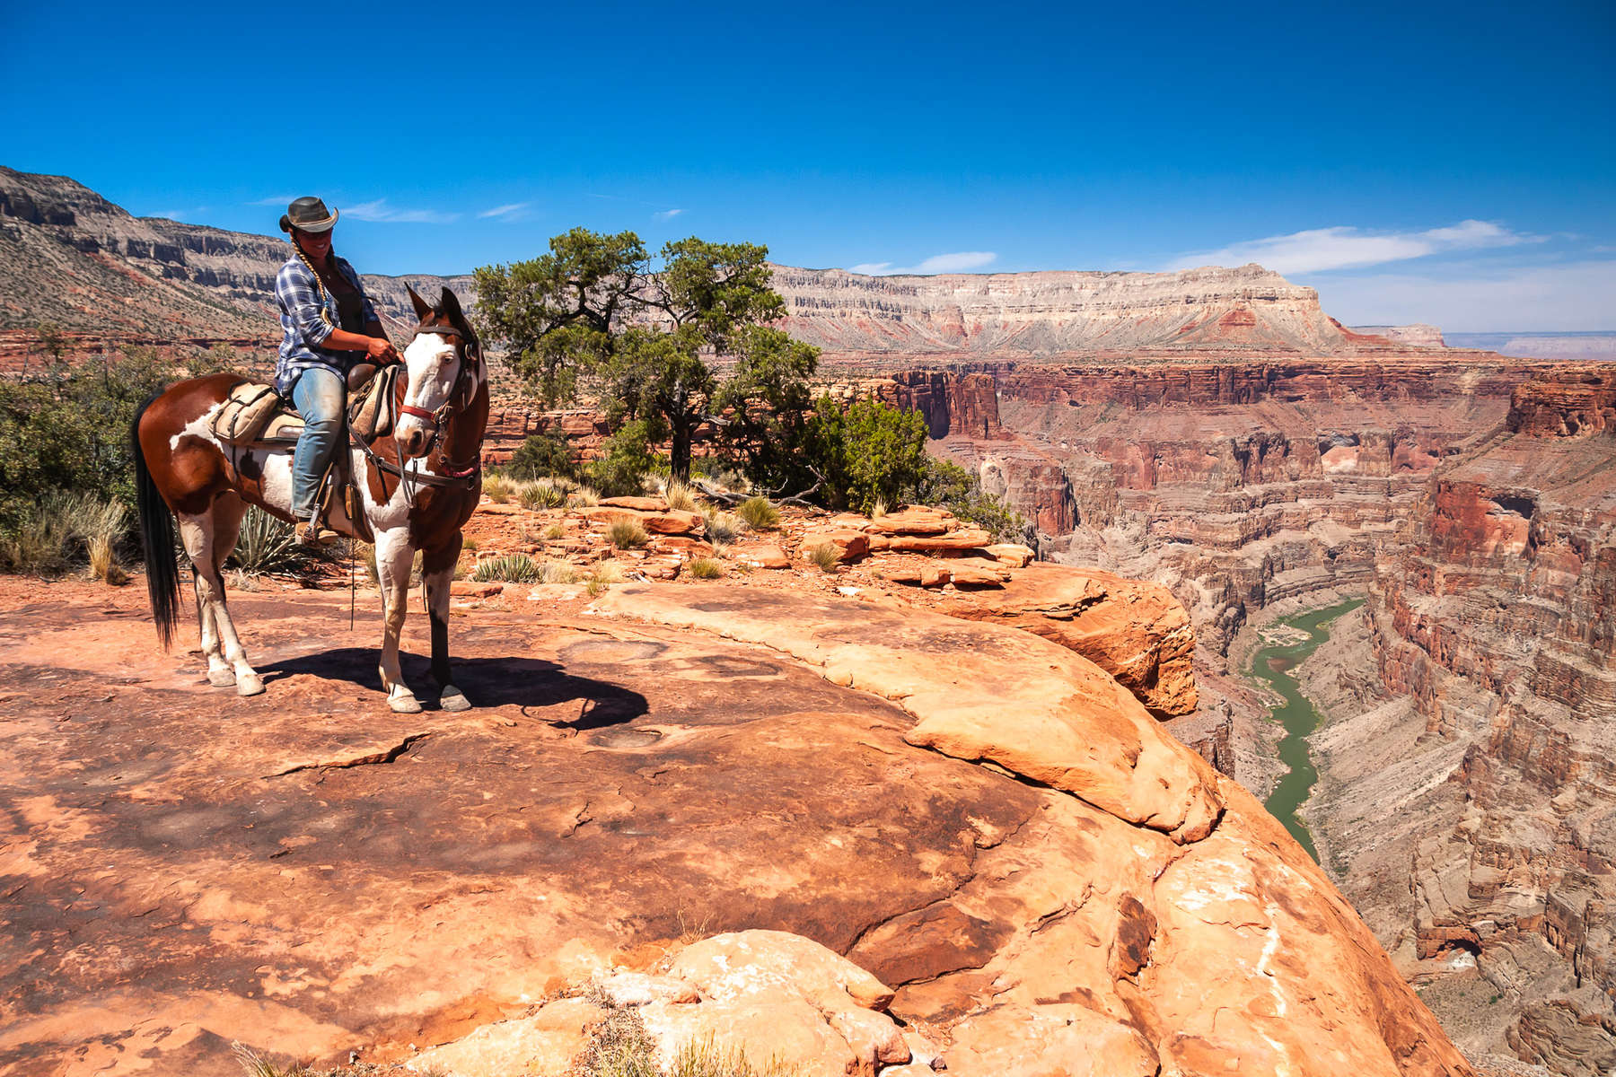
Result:
M1422 958L1475 953L1521 1012L1509 1046L1566 1074L1616 1064L1613 405L1616 367L1522 384L1370 581L1380 683L1448 778L1422 791L1406 927Z

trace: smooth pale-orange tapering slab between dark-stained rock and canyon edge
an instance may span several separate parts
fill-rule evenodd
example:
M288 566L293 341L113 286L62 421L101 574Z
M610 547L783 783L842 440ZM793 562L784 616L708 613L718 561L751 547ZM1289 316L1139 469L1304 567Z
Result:
M991 759L1131 823L1204 836L1220 811L1206 761L1088 659L1031 633L827 596L617 588L604 614L761 643L826 678L897 701L911 744ZM1037 670L1029 677L1028 670Z

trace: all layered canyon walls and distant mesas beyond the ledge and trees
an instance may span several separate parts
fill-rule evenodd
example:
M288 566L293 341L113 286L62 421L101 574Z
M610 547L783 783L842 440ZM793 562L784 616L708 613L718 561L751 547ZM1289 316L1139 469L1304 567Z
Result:
M0 170L0 242L13 352L47 318L95 347L273 328L268 237ZM406 279L438 278L367 286L402 316ZM1168 728L1259 798L1259 628L1364 599L1301 667L1324 867L1472 1061L1616 1066L1616 363L1353 331L1260 266L776 286L827 373L921 412L1042 557L1172 589L1199 706ZM496 447L558 420L595 433L509 402Z

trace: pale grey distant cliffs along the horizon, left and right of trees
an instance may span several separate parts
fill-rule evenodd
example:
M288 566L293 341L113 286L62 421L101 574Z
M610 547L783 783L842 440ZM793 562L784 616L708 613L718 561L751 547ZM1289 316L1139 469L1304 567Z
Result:
M0 168L0 329L40 321L97 336L275 334L286 242L136 218L65 176ZM470 276L367 276L383 310L414 323L404 284ZM1134 352L1332 355L1387 349L1343 329L1311 287L1257 265L1180 273L861 276L774 266L785 328L831 362L861 357L1057 357ZM1440 339L1440 337L1438 337ZM1396 344L1408 346L1408 341Z

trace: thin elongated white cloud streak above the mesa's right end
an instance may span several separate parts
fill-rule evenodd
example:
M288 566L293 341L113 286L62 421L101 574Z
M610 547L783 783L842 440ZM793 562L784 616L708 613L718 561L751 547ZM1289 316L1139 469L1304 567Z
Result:
M1509 231L1495 221L1459 221L1422 233L1375 233L1362 228L1312 228L1288 236L1267 236L1218 250L1197 250L1172 262L1170 270L1202 265L1246 265L1257 262L1275 273L1325 273L1362 270L1388 262L1406 262L1433 254L1514 247L1542 242L1545 236Z

